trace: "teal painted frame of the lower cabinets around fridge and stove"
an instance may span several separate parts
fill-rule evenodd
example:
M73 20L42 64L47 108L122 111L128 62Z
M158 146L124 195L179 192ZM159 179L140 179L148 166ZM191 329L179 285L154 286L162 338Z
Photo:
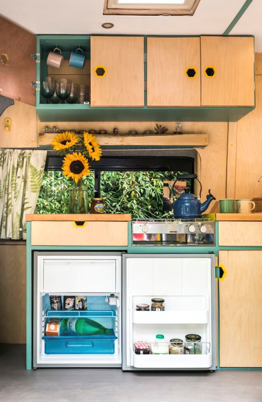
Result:
M31 222L27 222L27 240L26 240L26 369L32 369L33 357L33 254L34 251L122 251L130 254L204 254L213 253L218 256L220 250L261 250L262 247L226 247L219 246L219 233L218 222L216 222L215 229L215 246L174 246L174 247L143 247L132 246L132 230L131 222L129 222L128 246L127 247L90 247L90 246L32 246L31 245ZM219 288L219 284L218 284ZM217 369L218 370L261 370L261 368L223 368L219 363L219 289L218 289L218 303L217 303Z

